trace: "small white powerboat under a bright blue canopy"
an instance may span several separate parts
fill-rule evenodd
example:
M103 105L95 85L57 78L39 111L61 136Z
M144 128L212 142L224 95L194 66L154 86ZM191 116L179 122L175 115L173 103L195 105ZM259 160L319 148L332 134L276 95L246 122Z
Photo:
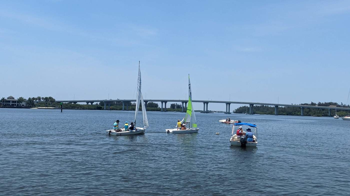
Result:
M236 130L236 127L239 127ZM243 127L246 127L248 129L246 129L246 131L244 131ZM249 127L254 128L254 133L251 131L251 129ZM252 141L248 141L251 140L247 139L247 132L252 132L252 134L248 134L248 135L252 135ZM230 137L230 144L231 146L241 146L241 147L256 147L258 144L258 127L257 125L254 124L250 124L250 123L246 123L246 122L240 122L240 123L235 123L232 126L232 133L231 133L231 137Z

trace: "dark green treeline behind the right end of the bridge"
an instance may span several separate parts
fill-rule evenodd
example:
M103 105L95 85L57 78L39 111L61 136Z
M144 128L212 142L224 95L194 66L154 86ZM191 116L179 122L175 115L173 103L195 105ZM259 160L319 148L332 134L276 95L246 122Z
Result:
M293 105L293 104L292 104ZM294 104L297 105L297 104ZM337 106L337 107L350 107L350 105L345 105L343 103L338 104L335 102L318 102L317 104L314 102L311 103L303 103L299 105L311 105L311 106ZM254 105L253 106L254 114L275 114L274 106L267 105ZM242 114L249 113L249 106L241 106L233 111L234 113ZM337 115L345 116L349 114L349 110L337 110ZM293 115L299 116L301 115L300 107L278 107L278 115ZM335 110L331 110L331 115L335 115ZM318 109L318 108L304 108L304 116L328 116L328 109Z

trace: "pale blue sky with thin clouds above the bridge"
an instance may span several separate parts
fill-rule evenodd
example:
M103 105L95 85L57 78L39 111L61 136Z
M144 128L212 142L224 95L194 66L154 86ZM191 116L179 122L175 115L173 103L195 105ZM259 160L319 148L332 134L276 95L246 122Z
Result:
M141 61L145 99L188 99L190 74L196 100L346 103L349 19L350 1L2 0L0 97L132 99Z

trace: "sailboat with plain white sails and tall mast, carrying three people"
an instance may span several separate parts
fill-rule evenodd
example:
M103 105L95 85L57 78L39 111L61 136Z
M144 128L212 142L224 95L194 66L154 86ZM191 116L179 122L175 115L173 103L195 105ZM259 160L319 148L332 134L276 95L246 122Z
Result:
M136 127L136 116L139 111L140 107L140 101L141 103L144 102L144 98L142 97L141 93L141 71L140 71L140 61L139 61L139 75L137 79L137 98L136 98L136 108L135 108L135 120L134 120L134 126ZM137 135L137 134L144 134L146 128L148 128L148 119L147 119L147 113L146 113L146 107L142 105L142 116L144 119L144 127L136 127L136 130L125 130L124 128L120 129L121 131L118 130L106 130L108 135Z

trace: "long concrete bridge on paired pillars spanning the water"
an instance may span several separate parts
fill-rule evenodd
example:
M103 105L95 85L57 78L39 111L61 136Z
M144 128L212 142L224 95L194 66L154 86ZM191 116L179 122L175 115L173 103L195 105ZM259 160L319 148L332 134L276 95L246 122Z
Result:
M182 112L184 112L184 108L187 108L187 102L188 100L184 99L145 99L145 107L147 107L148 102L160 102L161 103L161 111L166 112L167 111L167 103L168 102L181 102L182 104ZM43 101L41 101L43 102ZM106 100L106 99L95 99L95 100L56 100L56 102L63 102L63 103L82 103L85 102L86 104L93 104L95 102L103 102L104 103L104 109L106 110L106 106L111 106L111 102L122 102L123 104L123 110L128 109L128 105L125 104L127 102L136 102L135 99L114 99L114 100ZM319 109L328 109L328 115L330 116L330 110L349 110L350 108L345 107L327 107L327 106L311 106L311 105L291 105L291 104L274 104L274 103L260 103L260 102L245 102L245 101L213 101L213 100L192 100L192 102L200 102L203 103L203 112L208 112L208 104L209 103L223 103L226 104L226 112L225 114L231 114L230 112L230 105L231 104L246 104L249 105L249 114L254 114L253 106L254 105L271 105L275 106L275 115L278 115L278 107L299 107L301 110L301 116L304 115L304 108L319 108ZM164 108L163 108L164 104ZM108 108L109 108L108 107Z

